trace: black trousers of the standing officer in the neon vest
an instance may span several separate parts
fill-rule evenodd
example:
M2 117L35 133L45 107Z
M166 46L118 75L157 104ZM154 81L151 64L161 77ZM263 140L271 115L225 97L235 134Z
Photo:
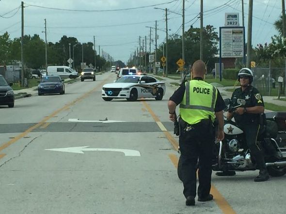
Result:
M196 196L196 171L198 167L199 198L209 195L212 173L212 156L214 146L214 128L211 122L200 122L188 128L180 126L179 146L181 151L183 194ZM198 161L199 158L199 161Z

